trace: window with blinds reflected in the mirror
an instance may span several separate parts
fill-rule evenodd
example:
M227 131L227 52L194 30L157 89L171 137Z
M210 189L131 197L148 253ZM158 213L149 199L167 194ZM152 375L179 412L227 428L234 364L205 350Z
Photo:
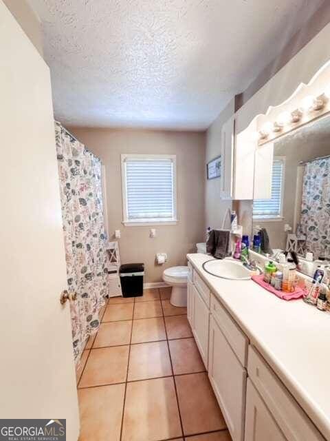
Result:
M256 219L283 218L283 187L285 158L274 157L272 172L272 197L256 199L253 203L253 217Z

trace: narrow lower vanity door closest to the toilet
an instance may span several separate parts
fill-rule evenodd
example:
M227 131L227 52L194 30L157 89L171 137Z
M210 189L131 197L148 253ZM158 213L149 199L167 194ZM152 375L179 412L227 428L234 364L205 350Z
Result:
M194 334L204 365L206 369L208 369L208 325L210 321L210 311L195 288L195 285L192 285L192 297L194 298L194 326L192 333Z

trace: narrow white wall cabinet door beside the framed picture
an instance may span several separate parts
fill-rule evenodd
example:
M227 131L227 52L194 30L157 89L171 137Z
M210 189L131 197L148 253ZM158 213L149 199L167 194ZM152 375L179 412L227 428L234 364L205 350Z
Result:
M222 199L232 198L234 173L234 118L228 119L221 130L221 192Z

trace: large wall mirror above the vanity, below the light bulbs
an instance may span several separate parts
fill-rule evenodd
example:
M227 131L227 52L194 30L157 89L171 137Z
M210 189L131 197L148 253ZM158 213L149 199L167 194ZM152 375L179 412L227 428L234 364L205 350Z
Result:
M269 172L264 159L252 237L261 236L261 253L274 260L281 250L296 252L298 269L313 276L321 263L330 265L330 116L259 147L256 155L264 155ZM256 157L256 173L257 164ZM258 197L265 192L267 198Z

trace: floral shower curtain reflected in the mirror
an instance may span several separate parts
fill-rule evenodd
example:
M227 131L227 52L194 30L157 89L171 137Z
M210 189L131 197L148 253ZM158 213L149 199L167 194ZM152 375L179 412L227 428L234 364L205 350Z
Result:
M330 258L330 158L305 165L300 233L306 252Z

